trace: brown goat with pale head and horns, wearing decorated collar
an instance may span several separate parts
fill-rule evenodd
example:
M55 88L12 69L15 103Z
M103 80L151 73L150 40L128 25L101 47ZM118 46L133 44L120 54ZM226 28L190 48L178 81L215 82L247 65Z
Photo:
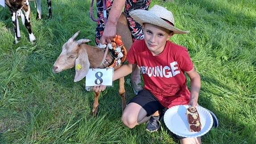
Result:
M63 46L62 52L60 56L57 58L56 62L53 64L52 71L54 73L61 72L63 70L73 68L75 65L80 64L81 69L78 70L76 68L76 74L74 82L82 80L88 73L89 68L104 68L101 64L101 61L104 58L104 49L93 47L87 44L84 44L88 41L88 39L81 39L75 41L76 36L79 32L76 32L74 36L72 36ZM131 33L128 29L128 24L125 16L122 14L120 16L118 25L117 25L117 34L122 37L122 41L124 43L124 47L128 49L132 44ZM111 60L113 60L112 56L108 53L106 56ZM117 68L120 68L121 65L117 65ZM124 77L119 79L119 94L122 100L122 111L126 106L125 101L125 89L124 89ZM92 113L96 115L98 112L98 100L99 100L100 92L94 92L94 104L92 108Z

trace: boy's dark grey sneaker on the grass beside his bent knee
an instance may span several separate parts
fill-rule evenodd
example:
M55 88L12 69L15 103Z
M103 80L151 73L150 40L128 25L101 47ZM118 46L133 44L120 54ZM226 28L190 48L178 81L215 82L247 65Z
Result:
M151 116L150 119L147 122L146 130L148 132L156 132L160 129L160 123L159 123L160 116Z

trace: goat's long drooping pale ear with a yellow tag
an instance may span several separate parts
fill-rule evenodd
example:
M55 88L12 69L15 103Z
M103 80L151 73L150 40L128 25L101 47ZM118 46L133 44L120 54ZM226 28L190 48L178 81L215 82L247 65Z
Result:
M80 49L79 56L76 59L76 75L74 82L82 80L90 68L88 54L85 49Z

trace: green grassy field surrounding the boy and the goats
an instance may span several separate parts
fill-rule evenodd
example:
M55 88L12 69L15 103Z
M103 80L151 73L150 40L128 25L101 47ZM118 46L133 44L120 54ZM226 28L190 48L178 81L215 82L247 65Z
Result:
M201 76L199 104L219 119L219 127L202 136L204 144L256 144L256 1L152 0L171 10L176 27L190 30L171 40L188 48ZM74 83L75 70L52 73L61 46L77 31L94 45L96 22L89 0L52 0L53 17L31 21L36 44L23 25L21 40L8 8L0 7L0 144L176 144L166 127L148 133L145 124L122 124L118 81L100 96L92 116L93 92L84 80ZM152 6L151 5L151 6ZM96 9L94 8L94 14ZM21 22L20 22L21 24ZM134 94L125 77L126 100ZM189 84L189 82L188 82Z

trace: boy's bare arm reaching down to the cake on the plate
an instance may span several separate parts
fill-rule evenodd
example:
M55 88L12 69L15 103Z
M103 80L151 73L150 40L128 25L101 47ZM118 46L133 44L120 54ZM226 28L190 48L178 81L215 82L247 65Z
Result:
M197 100L201 88L201 81L200 76L196 72L195 68L193 68L191 71L186 72L187 75L190 78L190 102L189 104L192 106L198 105Z

